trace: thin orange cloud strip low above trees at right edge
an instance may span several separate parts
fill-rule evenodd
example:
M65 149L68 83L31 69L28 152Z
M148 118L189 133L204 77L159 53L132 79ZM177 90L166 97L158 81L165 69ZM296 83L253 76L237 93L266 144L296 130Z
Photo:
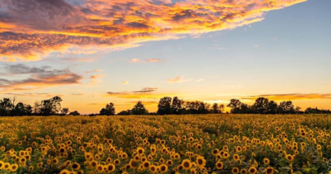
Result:
M331 94L319 94L319 93L310 93L310 94L301 94L301 93L292 93L292 94L267 94L267 95L248 95L242 97L241 99L255 100L259 97L265 97L270 100L284 101L284 100L299 100L299 99L331 99Z

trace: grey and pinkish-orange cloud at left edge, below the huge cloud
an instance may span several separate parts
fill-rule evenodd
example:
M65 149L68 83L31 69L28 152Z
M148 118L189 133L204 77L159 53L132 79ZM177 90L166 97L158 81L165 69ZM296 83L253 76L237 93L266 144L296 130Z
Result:
M23 64L5 65L5 72L0 72L0 90L33 90L48 86L62 86L79 84L83 79L68 69L50 70L49 66L40 68L28 67ZM1 78L5 75L6 79ZM8 76L14 76L15 80L8 80ZM23 79L19 79L22 77Z

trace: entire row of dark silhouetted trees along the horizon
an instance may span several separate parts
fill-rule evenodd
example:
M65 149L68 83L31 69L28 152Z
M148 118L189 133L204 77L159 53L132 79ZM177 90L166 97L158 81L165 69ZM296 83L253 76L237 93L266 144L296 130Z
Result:
M50 99L34 102L34 106L19 102L15 104L17 97L0 99L0 116L23 116L23 115L80 115L77 110L70 112L68 108L61 107L61 97L55 96ZM319 108L307 108L302 111L299 106L294 107L292 101L276 101L259 97L254 104L248 105L239 99L231 99L226 105L233 114L330 114L331 110ZM131 110L122 110L117 115L196 115L210 113L225 113L225 105L209 104L203 101L183 101L178 97L162 97L157 105L157 112L149 113L142 101L138 101ZM116 115L113 103L106 104L99 113L93 115Z

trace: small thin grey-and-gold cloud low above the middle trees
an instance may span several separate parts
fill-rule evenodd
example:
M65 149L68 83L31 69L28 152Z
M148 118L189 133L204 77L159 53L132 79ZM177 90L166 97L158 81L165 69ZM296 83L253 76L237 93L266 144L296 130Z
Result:
M124 91L124 92L108 92L107 97L119 97L125 99L159 99L164 96L172 96L172 94L154 93L158 88L142 88L141 90Z

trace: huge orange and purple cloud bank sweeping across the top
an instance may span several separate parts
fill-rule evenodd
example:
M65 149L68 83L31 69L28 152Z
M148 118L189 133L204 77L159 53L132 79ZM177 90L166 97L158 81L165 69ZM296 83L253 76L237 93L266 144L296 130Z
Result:
M68 49L109 52L249 25L306 0L0 0L0 60Z

